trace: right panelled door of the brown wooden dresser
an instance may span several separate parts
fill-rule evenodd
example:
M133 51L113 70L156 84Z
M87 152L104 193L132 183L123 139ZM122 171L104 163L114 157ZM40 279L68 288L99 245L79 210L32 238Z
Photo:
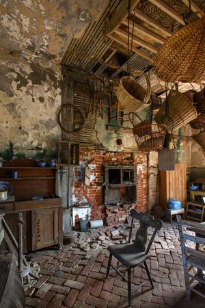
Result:
M31 212L32 250L58 243L58 209L37 209Z

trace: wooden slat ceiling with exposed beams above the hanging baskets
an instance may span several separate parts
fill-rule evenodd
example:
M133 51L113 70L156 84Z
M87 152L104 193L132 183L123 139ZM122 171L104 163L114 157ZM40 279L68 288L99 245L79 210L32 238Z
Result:
M192 12L203 11L203 3L191 0ZM101 75L109 68L112 57L123 55L124 63L109 73L111 79L120 78L120 73L127 73L129 32L130 48L133 34L130 73L152 69L161 44L184 25L189 0L131 0L130 5L128 20L128 0L111 0L98 21L87 26L81 39L72 39L61 64ZM163 89L154 70L150 71L150 79L153 92Z

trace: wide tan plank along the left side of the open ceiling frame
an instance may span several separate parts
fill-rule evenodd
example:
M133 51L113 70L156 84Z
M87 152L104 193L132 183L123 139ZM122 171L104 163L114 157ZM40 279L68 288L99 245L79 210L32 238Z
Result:
M112 12L109 21L105 25L105 34L112 34L115 29L120 26L120 23L128 17L128 2L129 0L122 0L118 8ZM130 0L130 11L139 3L139 0Z

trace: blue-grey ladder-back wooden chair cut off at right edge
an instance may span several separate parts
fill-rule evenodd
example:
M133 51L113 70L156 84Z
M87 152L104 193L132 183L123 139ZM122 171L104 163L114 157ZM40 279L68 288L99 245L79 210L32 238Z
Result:
M200 290L196 290L195 286L193 287L193 283L195 283L196 281L198 281L202 285L205 285L205 275L202 272L203 270L205 270L205 253L199 250L200 245L205 245L205 238L200 238L198 236L190 235L187 233L187 229L191 231L198 230L198 232L200 233L200 229L202 229L202 227L200 227L199 223L184 221L180 218L179 215L177 215L176 218L178 222L178 230L182 248L182 261L187 292L187 304L189 306L191 291L205 298L205 295L200 292ZM195 229L196 227L193 228L193 225L198 226L197 229ZM187 243L186 241L189 242ZM193 246L193 244L195 244L195 248L190 247ZM191 270L194 267L197 268L197 273L191 274Z

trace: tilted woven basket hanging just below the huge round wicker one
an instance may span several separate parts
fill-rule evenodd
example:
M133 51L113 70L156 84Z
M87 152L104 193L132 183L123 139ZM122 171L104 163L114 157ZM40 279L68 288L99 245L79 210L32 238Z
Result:
M167 96L168 112L166 115L166 101L163 103L154 120L156 123L167 125L167 131L172 132L187 125L197 117L195 107L191 101L177 90L171 90Z

